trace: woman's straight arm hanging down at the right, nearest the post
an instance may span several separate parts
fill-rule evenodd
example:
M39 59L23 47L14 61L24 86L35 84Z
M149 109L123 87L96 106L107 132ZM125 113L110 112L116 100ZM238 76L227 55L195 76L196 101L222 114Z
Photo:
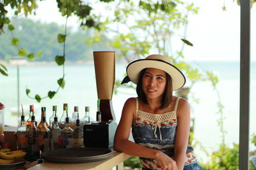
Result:
M177 132L174 146L174 160L178 169L183 169L185 164L186 150L188 147L189 128L190 128L190 108L185 99L180 99L177 108Z

